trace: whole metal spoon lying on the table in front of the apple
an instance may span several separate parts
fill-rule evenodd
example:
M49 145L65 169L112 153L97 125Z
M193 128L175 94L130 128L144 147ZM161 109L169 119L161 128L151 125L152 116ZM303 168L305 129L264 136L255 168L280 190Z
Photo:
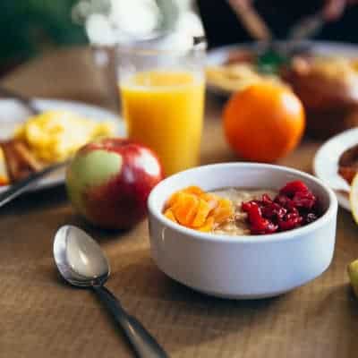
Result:
M54 258L58 270L68 283L93 289L115 322L123 329L138 357L168 357L146 328L124 311L114 294L104 286L109 277L109 263L90 235L76 226L62 226L55 234Z

